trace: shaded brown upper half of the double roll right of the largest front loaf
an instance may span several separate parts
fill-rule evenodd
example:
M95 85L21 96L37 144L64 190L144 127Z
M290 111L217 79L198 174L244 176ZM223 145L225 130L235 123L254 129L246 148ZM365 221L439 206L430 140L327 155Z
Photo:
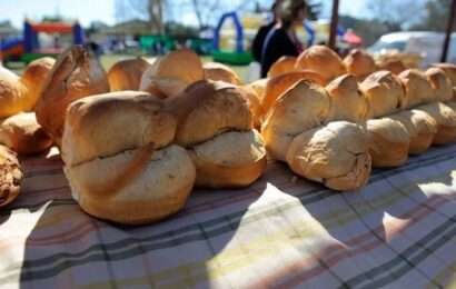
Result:
M169 99L166 109L177 119L176 143L192 146L229 130L250 130L248 97L221 81L199 81Z

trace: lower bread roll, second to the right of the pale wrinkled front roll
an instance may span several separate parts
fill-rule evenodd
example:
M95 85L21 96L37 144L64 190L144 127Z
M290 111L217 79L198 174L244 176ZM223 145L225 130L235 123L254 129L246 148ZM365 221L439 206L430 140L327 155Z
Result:
M404 110L391 114L391 119L399 121L410 136L409 155L420 155L429 149L437 133L437 122L422 110Z

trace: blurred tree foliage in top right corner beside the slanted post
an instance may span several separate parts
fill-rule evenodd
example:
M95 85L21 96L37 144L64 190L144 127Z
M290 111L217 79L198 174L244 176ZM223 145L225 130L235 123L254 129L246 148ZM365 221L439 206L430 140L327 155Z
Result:
M428 0L425 4L424 18L410 29L445 31L450 7L452 0ZM456 22L453 27L456 27Z

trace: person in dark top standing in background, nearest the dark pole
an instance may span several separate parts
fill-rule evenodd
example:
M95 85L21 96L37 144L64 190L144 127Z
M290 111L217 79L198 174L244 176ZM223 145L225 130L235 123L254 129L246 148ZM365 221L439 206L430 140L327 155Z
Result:
M304 47L296 34L296 28L306 19L305 0L284 0L278 6L279 22L269 31L261 51L261 77L282 56L297 57Z

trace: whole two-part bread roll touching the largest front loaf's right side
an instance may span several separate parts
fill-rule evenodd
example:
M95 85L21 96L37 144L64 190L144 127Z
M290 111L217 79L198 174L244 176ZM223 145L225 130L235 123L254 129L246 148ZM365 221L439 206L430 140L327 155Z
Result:
M192 157L198 187L245 187L266 169L266 149L242 93L220 81L199 81L167 101L178 123L175 142Z

